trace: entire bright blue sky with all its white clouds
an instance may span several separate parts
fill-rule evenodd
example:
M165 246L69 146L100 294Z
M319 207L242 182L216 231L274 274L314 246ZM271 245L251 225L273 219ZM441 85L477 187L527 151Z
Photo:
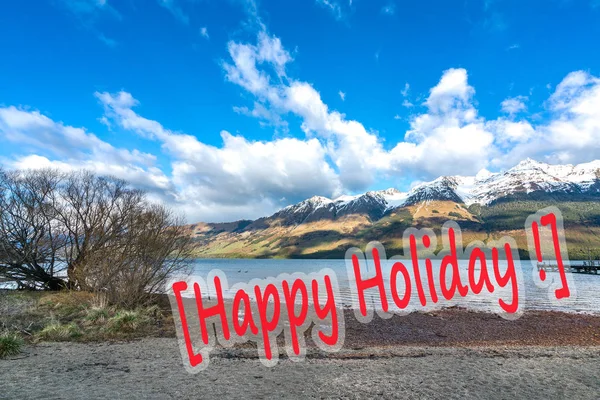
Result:
M600 2L48 0L0 13L0 163L190 221L600 158Z

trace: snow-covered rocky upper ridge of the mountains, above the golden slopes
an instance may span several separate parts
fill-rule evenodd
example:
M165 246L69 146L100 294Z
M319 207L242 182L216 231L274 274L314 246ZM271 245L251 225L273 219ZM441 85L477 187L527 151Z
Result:
M488 205L507 196L532 192L600 193L600 160L574 166L550 165L528 158L506 171L490 173L484 170L471 177L442 176L408 192L390 188L336 199L314 196L282 209L272 218L280 218L287 224L300 224L364 214L377 220L390 210L422 202L447 200L467 206Z

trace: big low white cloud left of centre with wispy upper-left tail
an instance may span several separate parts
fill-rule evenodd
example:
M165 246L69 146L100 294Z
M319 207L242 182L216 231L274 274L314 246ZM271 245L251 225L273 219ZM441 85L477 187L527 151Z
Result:
M97 93L106 115L124 129L157 140L171 158L175 204L191 220L259 217L273 212L279 199L297 201L314 194L340 193L335 172L325 161L317 139L248 141L221 132L222 147L206 145L195 136L172 132L138 115L129 93Z

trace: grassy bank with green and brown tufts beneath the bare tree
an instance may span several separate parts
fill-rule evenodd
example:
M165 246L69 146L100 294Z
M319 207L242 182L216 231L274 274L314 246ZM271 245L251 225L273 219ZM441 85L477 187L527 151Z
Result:
M93 293L0 292L0 357L24 343L94 342L175 335L168 300L132 310L110 306Z

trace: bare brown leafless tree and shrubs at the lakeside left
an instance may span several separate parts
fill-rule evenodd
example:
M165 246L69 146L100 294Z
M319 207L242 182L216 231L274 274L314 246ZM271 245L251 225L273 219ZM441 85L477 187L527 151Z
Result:
M134 306L191 254L172 211L90 172L0 171L0 213L0 277L20 287L99 291Z

